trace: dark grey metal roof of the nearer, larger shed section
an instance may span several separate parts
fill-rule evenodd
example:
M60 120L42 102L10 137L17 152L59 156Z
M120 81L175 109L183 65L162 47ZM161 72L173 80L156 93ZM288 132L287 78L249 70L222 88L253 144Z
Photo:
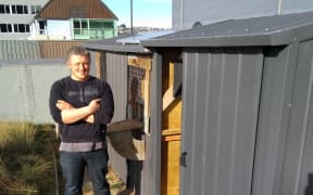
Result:
M313 37L313 12L228 20L140 41L143 47L284 46Z

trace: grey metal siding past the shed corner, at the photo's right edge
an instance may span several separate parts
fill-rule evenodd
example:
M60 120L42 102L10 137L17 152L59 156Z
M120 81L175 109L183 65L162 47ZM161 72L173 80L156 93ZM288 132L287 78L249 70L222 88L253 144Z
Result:
M299 44L280 194L312 194L313 40ZM310 180L311 181L310 181Z

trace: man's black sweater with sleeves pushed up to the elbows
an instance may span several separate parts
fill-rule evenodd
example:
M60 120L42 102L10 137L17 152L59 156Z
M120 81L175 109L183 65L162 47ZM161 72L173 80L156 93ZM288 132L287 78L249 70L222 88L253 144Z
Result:
M63 123L61 110L55 106L58 100L64 100L78 108L87 106L93 99L101 99L100 109L93 114L95 123L85 120ZM49 107L52 118L59 123L62 142L98 142L105 136L107 123L114 113L114 101L111 87L104 80L90 76L86 81L76 81L68 76L52 84Z

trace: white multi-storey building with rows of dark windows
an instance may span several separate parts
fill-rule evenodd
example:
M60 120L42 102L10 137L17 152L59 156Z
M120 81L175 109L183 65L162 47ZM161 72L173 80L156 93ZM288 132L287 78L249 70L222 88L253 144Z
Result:
M0 40L27 39L29 23L48 0L1 0Z

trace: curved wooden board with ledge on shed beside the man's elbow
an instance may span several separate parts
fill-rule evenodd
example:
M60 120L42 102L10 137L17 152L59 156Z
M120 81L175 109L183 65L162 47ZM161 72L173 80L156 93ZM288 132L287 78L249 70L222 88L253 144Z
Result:
M132 130L142 128L142 122L126 119L108 126L108 136L112 147L121 156L132 160L143 160L146 144L132 135Z

